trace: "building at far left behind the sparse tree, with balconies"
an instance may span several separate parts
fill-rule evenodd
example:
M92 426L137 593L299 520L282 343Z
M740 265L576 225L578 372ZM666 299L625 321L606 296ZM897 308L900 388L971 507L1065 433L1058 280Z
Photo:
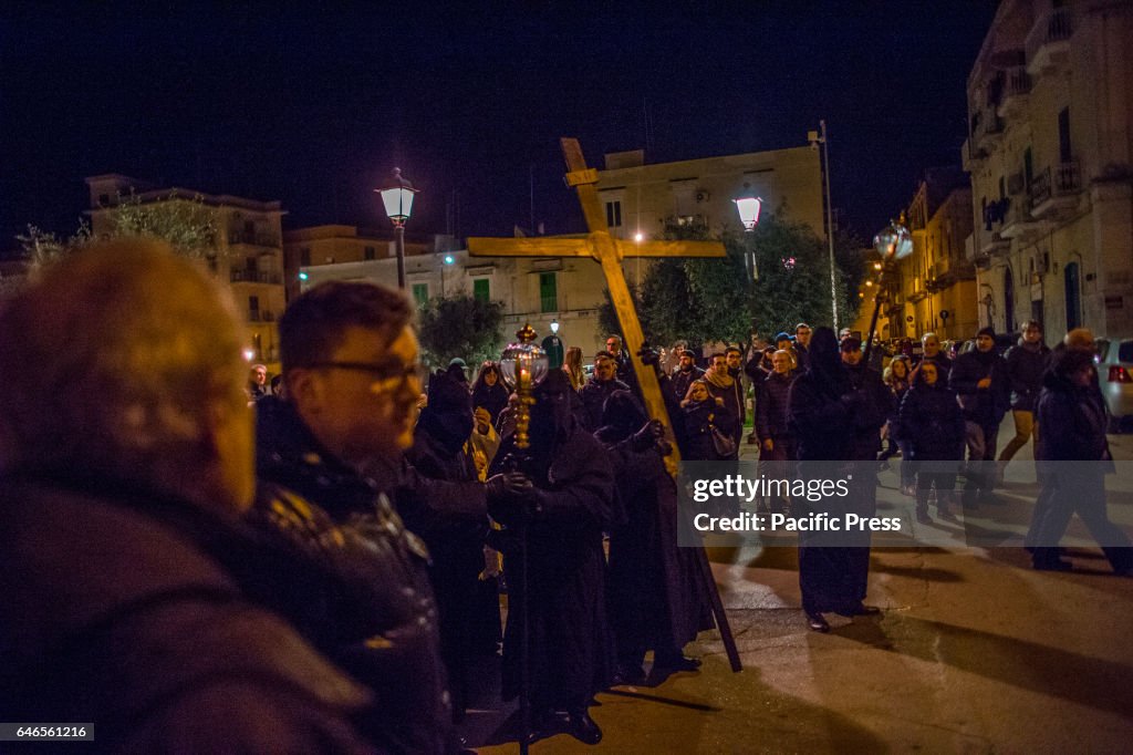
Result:
M201 194L180 188L155 188L129 176L109 173L86 179L91 193L91 230L95 236L114 230L114 207L127 200L201 203L215 212L215 248L204 263L232 288L237 306L249 330L252 362L279 370L279 331L283 314L283 210L279 202L258 202L238 196Z

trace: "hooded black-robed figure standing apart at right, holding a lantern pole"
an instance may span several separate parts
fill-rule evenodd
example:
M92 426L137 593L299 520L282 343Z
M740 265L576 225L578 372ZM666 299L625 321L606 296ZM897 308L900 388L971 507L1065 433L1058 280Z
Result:
M819 328L810 341L807 371L791 385L789 426L799 442L800 475L804 480L872 478L874 469L855 473L864 433L871 432L879 407L874 391L854 387L842 364L834 331ZM884 412L880 413L884 417ZM860 426L859 426L860 425ZM823 463L823 464L819 464ZM869 463L863 463L868 465ZM877 502L872 484L850 484L850 494L829 495L818 501L799 499L798 516L826 512L844 523L846 514L872 516ZM792 501L792 506L794 501ZM823 612L843 616L876 613L862 604L869 574L869 533L850 536L845 532L807 531L799 534L799 586L802 610L811 629L829 631Z

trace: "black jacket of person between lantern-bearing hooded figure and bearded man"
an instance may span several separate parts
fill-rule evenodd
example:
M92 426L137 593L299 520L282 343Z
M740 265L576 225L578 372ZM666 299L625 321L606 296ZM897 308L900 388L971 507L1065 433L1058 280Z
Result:
M900 409L901 439L912 447L910 461L951 461L964 452L964 414L956 392L939 379L905 391Z

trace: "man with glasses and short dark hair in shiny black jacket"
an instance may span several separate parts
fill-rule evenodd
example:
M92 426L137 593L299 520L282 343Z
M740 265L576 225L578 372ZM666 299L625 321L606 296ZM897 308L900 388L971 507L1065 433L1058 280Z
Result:
M440 654L428 551L391 499L421 392L414 307L353 281L312 288L280 320L287 397L256 405L252 524L310 565L286 613L381 701L384 749L459 748Z

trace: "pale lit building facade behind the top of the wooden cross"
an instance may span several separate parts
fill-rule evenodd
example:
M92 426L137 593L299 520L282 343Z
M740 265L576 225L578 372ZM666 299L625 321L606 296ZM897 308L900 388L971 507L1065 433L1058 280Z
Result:
M647 164L645 151L606 155L598 197L617 238L658 238L666 226L698 226L712 237L742 232L733 200L755 194L763 212L804 223L826 238L823 173L809 146Z

